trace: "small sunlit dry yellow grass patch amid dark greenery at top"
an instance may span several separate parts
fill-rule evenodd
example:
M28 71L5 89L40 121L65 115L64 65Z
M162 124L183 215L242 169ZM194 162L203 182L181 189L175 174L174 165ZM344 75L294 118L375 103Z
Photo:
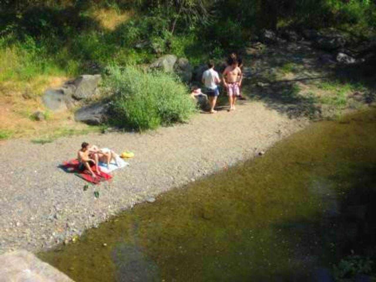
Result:
M108 30L115 30L117 26L128 21L133 15L133 11L120 13L115 9L99 9L92 13L92 17Z

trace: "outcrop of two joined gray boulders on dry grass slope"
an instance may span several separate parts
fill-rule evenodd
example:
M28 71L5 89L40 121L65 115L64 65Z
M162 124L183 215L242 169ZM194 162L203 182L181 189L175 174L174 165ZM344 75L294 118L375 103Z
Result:
M100 80L100 74L82 75L64 83L59 89L46 90L42 101L47 109L54 112L71 109L80 100L91 100L97 96Z

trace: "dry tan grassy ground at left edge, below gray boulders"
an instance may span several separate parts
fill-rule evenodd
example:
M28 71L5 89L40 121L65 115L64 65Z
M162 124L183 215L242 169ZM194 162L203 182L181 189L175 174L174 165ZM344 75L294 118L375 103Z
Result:
M53 114L45 109L41 96L47 88L58 88L64 76L38 76L29 82L8 81L0 83L0 132L10 132L12 138L54 138L79 131L96 130L76 123L73 112ZM45 121L35 121L30 116L35 111L47 113Z

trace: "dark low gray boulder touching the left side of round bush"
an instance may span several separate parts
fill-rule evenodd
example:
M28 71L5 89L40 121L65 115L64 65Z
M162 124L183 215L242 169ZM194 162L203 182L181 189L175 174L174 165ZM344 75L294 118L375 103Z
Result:
M90 125L102 124L108 118L108 108L108 103L103 102L84 106L74 114L74 120L81 121Z

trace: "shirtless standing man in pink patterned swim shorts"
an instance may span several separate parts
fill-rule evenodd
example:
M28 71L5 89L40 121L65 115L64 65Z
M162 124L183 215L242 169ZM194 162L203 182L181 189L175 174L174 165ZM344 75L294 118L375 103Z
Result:
M229 96L230 111L235 110L235 102L240 95L239 87L243 79L241 70L238 67L237 59L232 57L228 60L228 67L223 71L223 85L227 89L227 95Z

